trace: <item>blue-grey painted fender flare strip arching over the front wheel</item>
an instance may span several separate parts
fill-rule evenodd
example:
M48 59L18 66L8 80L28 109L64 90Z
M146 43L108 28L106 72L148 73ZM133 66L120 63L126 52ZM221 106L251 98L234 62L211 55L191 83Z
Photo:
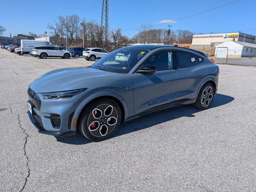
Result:
M124 112L125 112L124 117L125 117L125 119L127 118L128 111L127 111L127 106L126 106L125 100L119 94L117 94L115 92L112 92L112 91L100 91L100 92L96 92L96 93L88 96L86 99L84 99L80 103L78 108L76 108L76 111L75 111L74 116L72 118L71 130L76 130L76 127L73 126L74 125L74 120L75 120L75 118L79 117L79 115L82 112L84 106L86 106L86 104L88 104L90 101L94 100L95 98L98 98L98 97L101 97L101 96L113 96L113 97L117 98L122 103L123 108L124 108Z

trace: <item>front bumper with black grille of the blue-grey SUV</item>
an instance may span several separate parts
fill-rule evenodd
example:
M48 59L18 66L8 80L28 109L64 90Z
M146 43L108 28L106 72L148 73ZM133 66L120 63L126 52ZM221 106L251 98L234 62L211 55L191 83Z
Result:
M72 126L74 123L74 112L78 107L78 104L74 104L77 102L76 98L63 100L45 99L41 94L36 94L30 88L28 95L28 102L32 106L32 114L28 111L28 115L39 133L53 136L76 134L76 127ZM56 115L59 118L57 124L54 122Z

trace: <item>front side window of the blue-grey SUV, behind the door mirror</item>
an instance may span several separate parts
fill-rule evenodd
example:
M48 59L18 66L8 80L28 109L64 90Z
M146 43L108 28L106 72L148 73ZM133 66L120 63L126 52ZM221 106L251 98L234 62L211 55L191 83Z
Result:
M172 68L172 52L170 50L156 52L146 62L145 65L153 65L156 70L166 70Z

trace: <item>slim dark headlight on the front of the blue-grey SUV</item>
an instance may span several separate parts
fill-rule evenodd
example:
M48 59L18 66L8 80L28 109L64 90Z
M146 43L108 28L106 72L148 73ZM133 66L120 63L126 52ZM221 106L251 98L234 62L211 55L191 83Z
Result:
M69 99L69 98L72 98L75 95L85 91L86 89L87 88L70 90L70 91L59 91L59 92L42 93L42 95L46 99Z

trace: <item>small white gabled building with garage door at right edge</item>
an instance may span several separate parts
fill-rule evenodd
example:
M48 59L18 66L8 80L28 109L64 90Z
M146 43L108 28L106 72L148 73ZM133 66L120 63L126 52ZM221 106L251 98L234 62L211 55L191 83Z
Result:
M256 56L256 44L229 40L215 47L215 57L241 58L251 56Z

